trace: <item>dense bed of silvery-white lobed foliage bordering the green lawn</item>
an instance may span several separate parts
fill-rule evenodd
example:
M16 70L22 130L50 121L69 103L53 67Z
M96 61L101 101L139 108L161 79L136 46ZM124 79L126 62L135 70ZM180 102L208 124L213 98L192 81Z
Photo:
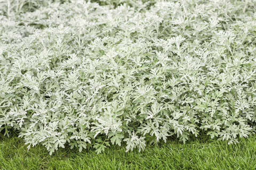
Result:
M0 130L28 149L95 148L256 120L256 1L0 1Z

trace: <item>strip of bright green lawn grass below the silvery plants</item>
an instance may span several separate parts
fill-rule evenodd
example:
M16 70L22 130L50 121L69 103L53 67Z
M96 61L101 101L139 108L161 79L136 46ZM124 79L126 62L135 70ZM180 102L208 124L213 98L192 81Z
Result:
M169 139L148 146L141 153L111 146L98 155L65 148L50 156L43 146L27 152L22 139L0 135L0 169L256 169L256 135L236 145L202 136L185 145Z

